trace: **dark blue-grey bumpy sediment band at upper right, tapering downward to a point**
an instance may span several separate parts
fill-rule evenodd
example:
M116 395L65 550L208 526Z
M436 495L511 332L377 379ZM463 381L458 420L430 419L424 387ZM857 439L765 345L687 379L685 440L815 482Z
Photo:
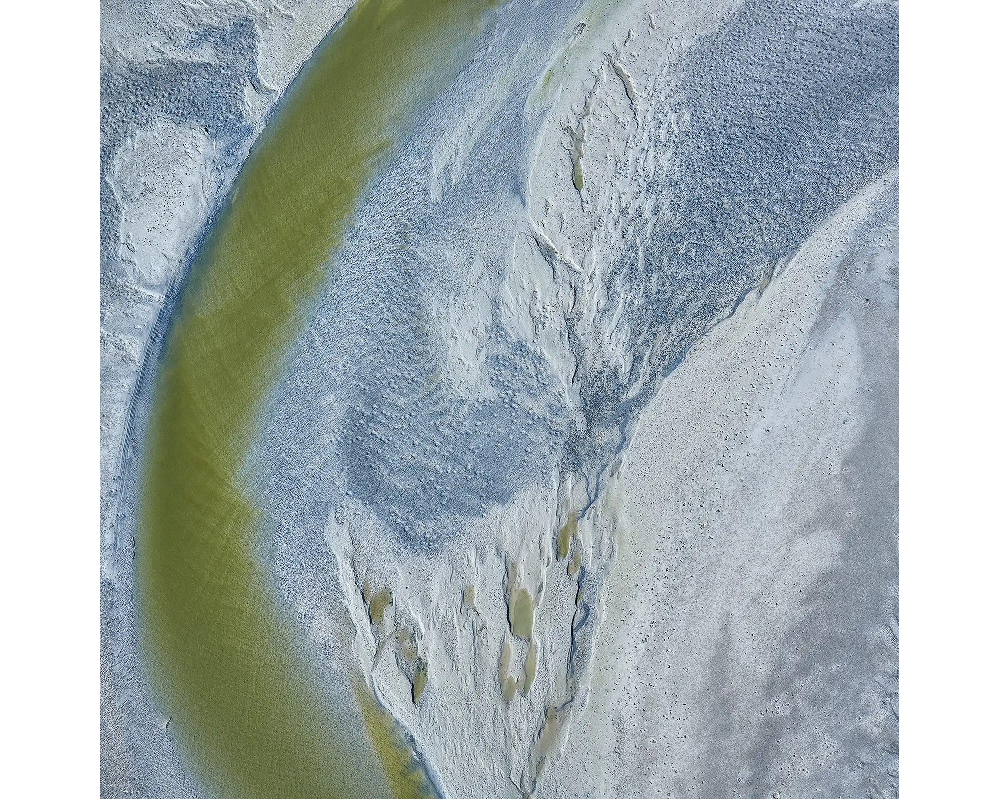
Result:
M567 437L565 463L593 477L591 497L689 348L897 164L897 14L892 4L750 0L683 58L658 111L679 122L661 123L653 144L668 166L649 176L653 207L632 220L649 233L608 271L596 321L569 330L585 434ZM593 349L615 315L647 373L622 380Z

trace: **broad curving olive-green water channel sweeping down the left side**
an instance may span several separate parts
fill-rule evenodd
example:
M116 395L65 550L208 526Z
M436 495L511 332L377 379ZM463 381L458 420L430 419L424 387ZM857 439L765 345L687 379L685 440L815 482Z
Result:
M413 112L461 68L491 5L362 0L252 150L178 304L148 436L140 635L171 730L222 796L429 790L374 708L363 707L371 739L324 710L258 557L244 461L362 192ZM365 768L375 756L382 768Z

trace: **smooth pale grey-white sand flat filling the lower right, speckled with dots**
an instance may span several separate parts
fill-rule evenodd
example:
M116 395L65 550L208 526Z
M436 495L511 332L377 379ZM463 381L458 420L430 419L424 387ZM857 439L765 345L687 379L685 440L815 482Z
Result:
M897 790L896 186L844 206L643 411L607 491L590 701L546 786Z

